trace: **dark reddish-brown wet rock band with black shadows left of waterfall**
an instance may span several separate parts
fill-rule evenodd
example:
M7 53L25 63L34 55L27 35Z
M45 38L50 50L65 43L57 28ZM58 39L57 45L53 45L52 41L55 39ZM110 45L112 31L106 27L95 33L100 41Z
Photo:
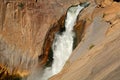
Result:
M52 46L55 34L59 31L63 32L65 30L64 20L65 20L65 15L63 15L58 20L58 22L53 24L53 26L48 30L45 37L44 44L43 44L42 55L39 56L39 60L41 64L50 65L52 63L51 61L53 61L52 59L53 52L52 52L51 46Z

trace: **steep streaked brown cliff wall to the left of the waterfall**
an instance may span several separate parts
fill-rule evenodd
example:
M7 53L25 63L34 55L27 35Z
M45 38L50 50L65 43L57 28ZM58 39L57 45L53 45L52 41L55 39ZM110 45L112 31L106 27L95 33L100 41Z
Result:
M51 25L69 6L79 3L79 0L0 0L0 64L11 73L29 73L38 65Z

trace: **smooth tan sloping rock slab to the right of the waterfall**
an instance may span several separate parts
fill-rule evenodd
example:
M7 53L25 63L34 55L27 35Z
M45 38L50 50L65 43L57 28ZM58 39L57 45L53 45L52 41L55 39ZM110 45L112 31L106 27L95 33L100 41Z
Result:
M82 41L73 51L63 70L59 74L50 78L50 80L120 79L120 19L118 17L120 13L119 5L120 3L112 2L111 5L106 5L104 8L96 7L94 9L92 13L92 19L90 19L91 26L89 25L89 27L87 27L85 36L83 37ZM100 28L103 26L106 26L107 28L103 28L105 29L105 32L100 34ZM97 27L99 28L97 29ZM97 31L94 32L94 30ZM93 37L90 36L91 34ZM100 38L101 40L99 40ZM92 48L89 48L90 46L88 46L86 43L87 40L89 42L92 42L93 40L99 41L92 43L95 45ZM87 47L83 45L87 45Z

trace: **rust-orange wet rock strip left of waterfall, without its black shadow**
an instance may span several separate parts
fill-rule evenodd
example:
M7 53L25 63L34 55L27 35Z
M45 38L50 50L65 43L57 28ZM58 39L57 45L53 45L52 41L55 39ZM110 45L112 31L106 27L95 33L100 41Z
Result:
M51 46L53 44L53 40L55 37L55 34L57 32L59 32L60 30L62 30L64 28L64 24L65 24L65 15L63 15L59 21L55 24L53 24L53 26L51 26L51 28L48 30L46 38L45 38L45 42L43 44L43 52L40 55L39 58L42 58L42 64L45 64L48 60L48 55L51 49Z

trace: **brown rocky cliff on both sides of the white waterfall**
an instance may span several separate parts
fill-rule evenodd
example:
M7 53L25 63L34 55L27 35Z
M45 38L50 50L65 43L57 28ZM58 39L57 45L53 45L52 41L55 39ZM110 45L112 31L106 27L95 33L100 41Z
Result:
M46 63L67 8L80 1L0 0L0 66L9 74L26 76L33 67ZM50 80L120 79L120 3L90 2L74 27L78 46L63 70Z

